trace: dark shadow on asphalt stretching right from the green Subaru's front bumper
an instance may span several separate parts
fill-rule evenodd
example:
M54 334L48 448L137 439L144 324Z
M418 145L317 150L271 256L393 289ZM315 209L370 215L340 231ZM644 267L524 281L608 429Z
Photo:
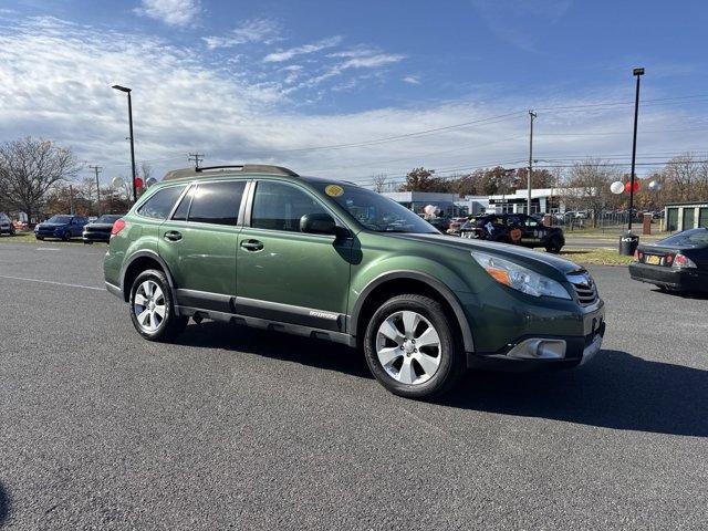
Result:
M614 429L708 437L708 371L602 351L553 373L471 373L438 404Z

